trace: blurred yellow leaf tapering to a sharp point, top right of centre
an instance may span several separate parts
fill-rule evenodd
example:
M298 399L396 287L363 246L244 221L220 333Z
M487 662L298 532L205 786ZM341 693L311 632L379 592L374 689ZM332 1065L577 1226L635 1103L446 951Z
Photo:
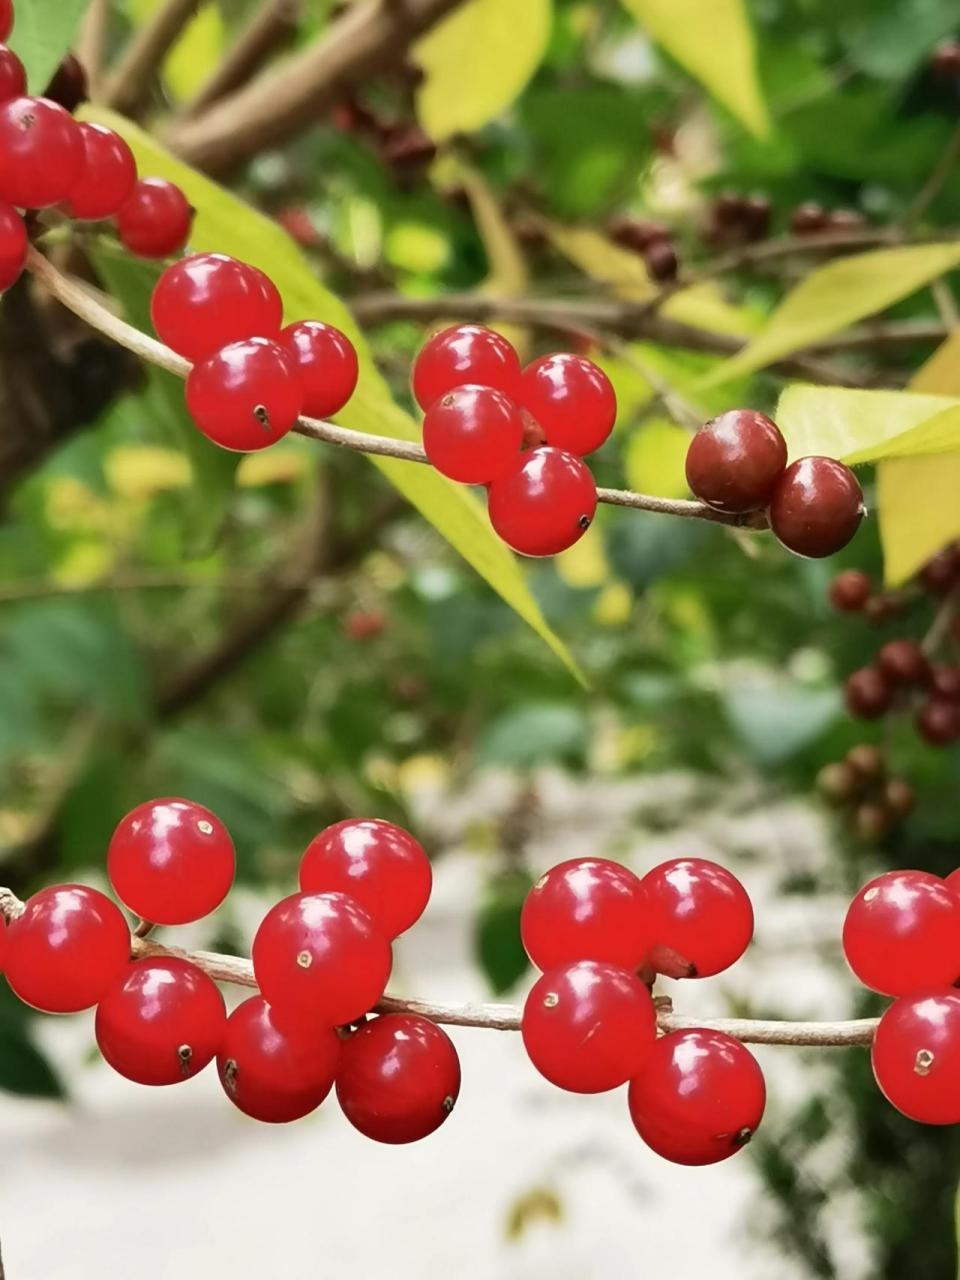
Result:
M623 0L657 44L756 137L771 132L744 0Z

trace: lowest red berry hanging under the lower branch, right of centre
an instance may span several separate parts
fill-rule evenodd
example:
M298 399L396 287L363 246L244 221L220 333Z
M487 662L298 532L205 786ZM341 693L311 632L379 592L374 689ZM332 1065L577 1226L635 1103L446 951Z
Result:
M676 1165L716 1165L756 1133L767 1087L756 1059L723 1032L671 1032L630 1082L630 1117Z

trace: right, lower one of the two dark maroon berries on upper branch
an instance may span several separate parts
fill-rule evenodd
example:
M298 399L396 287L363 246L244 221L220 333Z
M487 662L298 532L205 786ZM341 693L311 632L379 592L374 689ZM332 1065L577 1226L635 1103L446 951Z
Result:
M820 559L846 547L864 515L856 476L833 458L799 458L771 499L771 529L787 550Z

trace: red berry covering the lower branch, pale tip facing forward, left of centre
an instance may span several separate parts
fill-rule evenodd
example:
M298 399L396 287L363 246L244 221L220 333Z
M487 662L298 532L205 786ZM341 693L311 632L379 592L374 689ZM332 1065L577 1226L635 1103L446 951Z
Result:
M346 893L293 893L253 938L253 973L278 1016L339 1027L369 1012L390 977L390 943Z

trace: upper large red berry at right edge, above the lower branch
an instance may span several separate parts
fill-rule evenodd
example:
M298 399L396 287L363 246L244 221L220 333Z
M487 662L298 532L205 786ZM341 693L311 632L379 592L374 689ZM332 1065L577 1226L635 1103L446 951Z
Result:
M960 900L938 876L886 872L850 904L844 955L883 996L948 987L960 977Z

